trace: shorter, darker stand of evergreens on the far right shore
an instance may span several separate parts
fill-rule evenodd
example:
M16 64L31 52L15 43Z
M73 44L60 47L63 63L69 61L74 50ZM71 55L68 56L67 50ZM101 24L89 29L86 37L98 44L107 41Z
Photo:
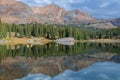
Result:
M91 39L120 39L120 28L90 31L88 34Z

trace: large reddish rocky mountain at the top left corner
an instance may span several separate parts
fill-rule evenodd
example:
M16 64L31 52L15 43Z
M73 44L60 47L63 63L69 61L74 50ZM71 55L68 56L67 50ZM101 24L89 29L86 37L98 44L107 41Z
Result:
M23 2L2 0L0 3L0 18L7 23L27 23L36 21L37 16ZM9 3L10 2L10 3Z

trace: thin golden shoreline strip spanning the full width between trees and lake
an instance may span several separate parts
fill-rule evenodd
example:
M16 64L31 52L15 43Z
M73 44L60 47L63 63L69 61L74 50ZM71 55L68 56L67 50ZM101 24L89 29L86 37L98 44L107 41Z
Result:
M74 40L74 41L55 41L55 40L50 40L46 39L44 37L41 38L11 38L9 40L7 39L0 39L0 45L4 44L13 44L13 45L18 45L18 44L38 44L38 45L45 45L51 42L75 42L75 43L120 43L120 39L91 39L91 40Z

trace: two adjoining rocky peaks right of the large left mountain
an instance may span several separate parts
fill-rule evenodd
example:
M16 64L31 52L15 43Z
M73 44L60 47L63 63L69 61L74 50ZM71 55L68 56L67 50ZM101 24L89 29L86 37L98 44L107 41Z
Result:
M92 16L80 10L66 11L55 4L45 7L31 7L33 12L47 23L73 24L81 21L95 20Z

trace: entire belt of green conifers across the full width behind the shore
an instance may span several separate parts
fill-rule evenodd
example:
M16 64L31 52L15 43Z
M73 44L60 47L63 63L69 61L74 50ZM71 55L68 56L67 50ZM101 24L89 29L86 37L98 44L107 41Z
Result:
M120 28L85 30L75 25L8 24L0 21L0 38L11 38L13 33L14 37L45 37L48 39L73 37L77 40L111 39L120 37Z

